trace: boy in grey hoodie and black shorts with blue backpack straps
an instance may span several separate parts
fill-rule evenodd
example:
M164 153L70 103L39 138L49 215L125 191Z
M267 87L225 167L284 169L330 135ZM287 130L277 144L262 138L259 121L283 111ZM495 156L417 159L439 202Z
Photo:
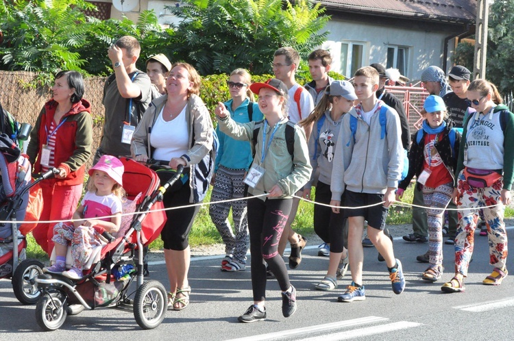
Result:
M384 102L376 98L378 72L374 68L366 66L358 69L354 75L354 86L361 103L343 117L339 131L341 143L336 145L334 155L334 164L342 167L334 167L332 170L330 205L341 206L341 196L345 189L345 206L376 205L344 212L349 225L348 251L352 284L339 296L340 302L365 299L361 243L365 220L368 222L367 235L387 264L393 292L401 294L405 288L402 263L395 259L393 243L383 231L402 173L400 118L392 108L386 106L383 113L386 121L380 120ZM332 210L339 213L339 207Z

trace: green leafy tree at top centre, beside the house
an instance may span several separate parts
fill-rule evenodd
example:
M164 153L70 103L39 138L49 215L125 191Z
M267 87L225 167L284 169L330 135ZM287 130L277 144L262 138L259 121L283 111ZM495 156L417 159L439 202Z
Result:
M308 0L186 0L168 7L182 22L171 40L173 58L189 62L202 75L245 67L271 73L278 47L290 46L306 57L326 40L329 16Z

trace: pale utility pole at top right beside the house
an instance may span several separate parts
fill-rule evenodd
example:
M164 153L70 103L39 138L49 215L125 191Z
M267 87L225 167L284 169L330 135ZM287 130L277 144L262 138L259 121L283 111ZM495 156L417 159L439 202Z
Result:
M489 25L489 1L476 1L475 57L473 66L474 79L485 78L485 60L487 58L487 26Z

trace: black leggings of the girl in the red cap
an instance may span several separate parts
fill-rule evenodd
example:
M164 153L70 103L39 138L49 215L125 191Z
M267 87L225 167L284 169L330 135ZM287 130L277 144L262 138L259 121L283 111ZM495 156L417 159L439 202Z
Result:
M252 260L254 301L266 298L266 265L275 275L280 290L289 289L289 275L284 259L278 253L278 242L286 226L293 199L248 200L248 229Z

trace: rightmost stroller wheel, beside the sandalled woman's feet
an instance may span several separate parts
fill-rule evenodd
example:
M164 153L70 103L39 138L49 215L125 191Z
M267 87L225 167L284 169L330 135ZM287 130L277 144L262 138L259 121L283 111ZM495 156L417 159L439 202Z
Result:
M139 327L143 329L158 327L164 320L167 307L166 289L159 281L146 281L136 291L134 318Z

